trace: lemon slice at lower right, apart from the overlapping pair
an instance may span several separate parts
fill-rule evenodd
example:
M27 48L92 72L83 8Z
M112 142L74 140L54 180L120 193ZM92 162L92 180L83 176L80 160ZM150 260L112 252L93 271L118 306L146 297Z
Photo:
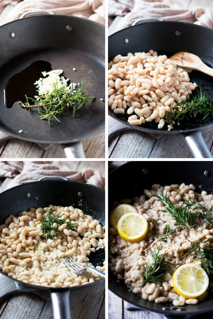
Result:
M180 266L172 277L174 289L185 298L197 298L207 290L209 277L205 270L195 263Z

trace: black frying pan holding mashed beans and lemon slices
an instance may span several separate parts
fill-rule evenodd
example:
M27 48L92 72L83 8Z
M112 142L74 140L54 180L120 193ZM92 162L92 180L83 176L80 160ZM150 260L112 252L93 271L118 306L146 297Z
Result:
M143 189L151 189L153 184L194 184L197 192L213 192L213 163L207 161L132 161L122 165L109 174L109 211L113 201L122 198L132 199L143 194ZM120 298L147 311L174 315L201 315L213 310L213 295L197 305L174 307L171 303L156 304L143 300L129 291L122 281L117 281L109 270L109 289Z

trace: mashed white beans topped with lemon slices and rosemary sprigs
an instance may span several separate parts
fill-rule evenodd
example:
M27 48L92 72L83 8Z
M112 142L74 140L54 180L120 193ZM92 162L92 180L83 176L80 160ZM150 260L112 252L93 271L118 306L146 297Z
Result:
M187 254L190 248L190 241L206 241L213 238L213 229L208 224L197 217L196 226L190 229L187 226L175 226L176 220L166 213L164 205L153 195L156 191L161 193L163 189L164 195L167 191L167 197L177 205L183 205L183 200L193 200L203 206L203 208L195 209L194 211L206 212L210 211L210 217L213 219L213 195L202 191L201 194L195 193L194 185L171 185L162 187L159 184L152 186L151 190L145 189L144 194L134 198L134 207L139 214L147 219L149 230L146 237L140 242L131 243L123 240L118 232L109 228L109 259L110 270L118 280L124 280L125 284L132 290L133 293L140 295L143 299L159 302L173 302L175 306L183 306L186 304L195 304L207 298L208 292L202 295L199 299L187 300L179 296L173 288L172 272L164 273L164 281L148 282L141 288L145 280L145 274L142 268L146 268L148 264L153 262L150 249L160 250L160 254L171 262L176 268L185 263L201 264L197 258L196 251ZM146 199L149 197L149 199ZM122 202L128 202L125 199ZM118 203L116 203L118 204ZM194 206L189 206L193 209ZM158 239L165 234L167 225L174 229L174 234L167 236L165 241ZM209 247L213 249L213 242L207 241L201 244L201 248ZM172 267L171 270L175 270ZM210 278L210 285L212 279Z

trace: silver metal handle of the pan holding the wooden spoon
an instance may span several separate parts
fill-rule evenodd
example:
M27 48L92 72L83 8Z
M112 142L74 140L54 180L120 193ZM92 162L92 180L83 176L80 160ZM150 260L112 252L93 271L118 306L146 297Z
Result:
M212 158L201 131L181 133L194 158Z

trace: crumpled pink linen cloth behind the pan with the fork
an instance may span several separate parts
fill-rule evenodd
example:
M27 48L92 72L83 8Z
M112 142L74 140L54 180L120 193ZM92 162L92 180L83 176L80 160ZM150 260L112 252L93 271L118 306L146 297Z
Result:
M64 176L70 181L87 183L104 189L105 178L97 169L83 168L79 171L70 169L66 162L58 161L2 161L0 178L13 178L10 188L37 181L43 176Z

